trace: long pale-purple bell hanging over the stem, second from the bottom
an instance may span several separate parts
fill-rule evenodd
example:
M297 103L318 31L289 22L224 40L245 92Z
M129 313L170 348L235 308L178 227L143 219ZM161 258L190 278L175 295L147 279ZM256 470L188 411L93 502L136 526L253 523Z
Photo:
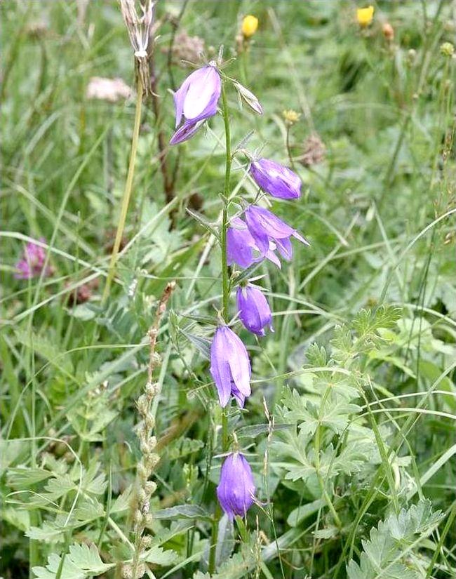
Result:
M250 396L250 359L242 341L228 326L220 326L210 347L210 373L217 387L220 406L233 395L243 408Z

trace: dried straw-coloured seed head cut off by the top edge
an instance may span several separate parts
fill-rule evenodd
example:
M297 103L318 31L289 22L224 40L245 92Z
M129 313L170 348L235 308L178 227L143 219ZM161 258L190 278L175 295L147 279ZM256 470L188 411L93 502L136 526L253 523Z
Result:
M142 90L149 91L149 67L147 67L147 51L152 37L154 24L154 1L153 0L120 0L123 21L127 27L130 44L138 62L138 74L142 84ZM136 6L139 6L137 10ZM139 12L139 14L138 14Z

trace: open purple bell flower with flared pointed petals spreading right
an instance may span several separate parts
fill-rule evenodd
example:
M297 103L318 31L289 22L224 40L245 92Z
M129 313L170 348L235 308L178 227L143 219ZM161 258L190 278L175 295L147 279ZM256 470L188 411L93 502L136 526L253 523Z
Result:
M293 255L290 237L295 237L304 245L310 245L309 241L304 239L296 229L293 229L286 222L276 217L274 213L263 207L250 205L246 209L246 222L248 231L262 255L266 255L267 251L269 251L270 242L272 241L282 257L289 261Z

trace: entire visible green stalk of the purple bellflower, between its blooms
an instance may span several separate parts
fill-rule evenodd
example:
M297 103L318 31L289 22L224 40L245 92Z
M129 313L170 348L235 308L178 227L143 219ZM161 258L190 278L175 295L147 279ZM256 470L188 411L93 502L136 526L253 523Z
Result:
M232 171L232 147L231 147L231 131L229 129L229 109L227 101L227 93L222 84L222 112L224 122L225 134L225 173L224 173L224 187L222 197L222 227L220 228L220 249L222 251L222 317L225 322L228 321L228 302L229 302L229 272L227 259L227 229L228 229L228 197L229 197L229 180ZM224 452L228 450L228 415L227 409L222 408L222 449ZM215 555L217 551L217 537L218 537L218 523L222 517L222 510L217 505L212 524L212 533L210 537L210 552L209 552L209 574L212 575L215 571Z

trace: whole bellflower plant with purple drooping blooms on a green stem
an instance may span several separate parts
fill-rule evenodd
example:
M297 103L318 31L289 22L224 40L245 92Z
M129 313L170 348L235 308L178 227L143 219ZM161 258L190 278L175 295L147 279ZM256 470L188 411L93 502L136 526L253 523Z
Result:
M293 255L290 239L295 237L304 245L308 241L286 222L276 217L271 211L250 204L244 211L244 218L236 215L229 220L229 207L232 203L231 173L232 154L231 128L229 107L226 94L227 84L232 84L241 99L257 114L263 109L256 96L242 86L238 81L225 76L217 63L210 62L195 72L192 72L175 92L175 126L177 131L170 140L171 145L184 142L199 130L209 117L217 113L217 105L221 100L222 117L225 136L225 171L224 186L220 194L222 201L221 222L217 239L220 242L222 269L222 307L218 312L217 327L210 347L210 374L215 382L220 406L222 406L221 441L222 451L229 451L228 405L232 397L240 408L246 404L250 396L250 358L246 346L234 329L229 328L229 300L232 289L236 287L239 275L232 275L230 266L247 268L264 259L281 267L278 252L286 260ZM236 149L238 152L238 149ZM241 152L241 149L239 149ZM248 159L250 154L246 153ZM276 161L258 159L251 161L250 176L264 192L279 199L297 199L301 194L301 180ZM242 279L242 277L241 277ZM255 335L264 336L265 328L271 326L272 312L261 289L244 281L237 288L236 302L239 319L243 326ZM239 284L238 284L239 285ZM236 413L232 409L231 413ZM215 415L216 416L216 415ZM236 441L236 433L232 434ZM217 498L229 519L235 515L245 516L253 505L255 484L252 470L246 458L236 451L228 455L222 465L220 484L217 486ZM220 514L216 514L216 519ZM215 571L215 546L217 545L218 526L213 526L210 542L209 566L210 574Z

